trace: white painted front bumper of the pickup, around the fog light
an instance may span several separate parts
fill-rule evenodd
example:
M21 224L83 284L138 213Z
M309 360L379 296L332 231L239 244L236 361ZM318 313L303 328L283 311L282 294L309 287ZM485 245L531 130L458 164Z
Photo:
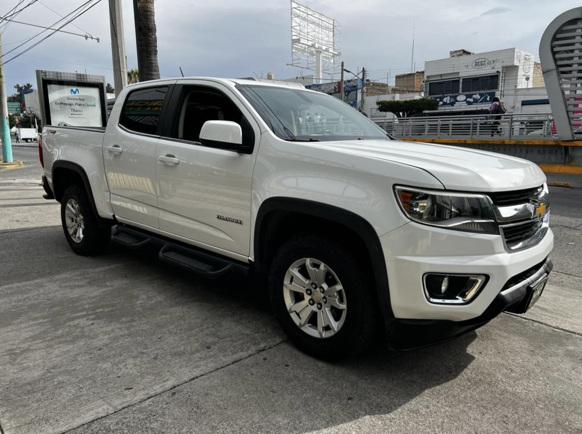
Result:
M553 247L551 230L537 246L507 252L500 235L460 232L410 222L380 237L393 316L401 319L467 321L481 316L514 276L541 264ZM469 304L430 303L425 273L487 275Z

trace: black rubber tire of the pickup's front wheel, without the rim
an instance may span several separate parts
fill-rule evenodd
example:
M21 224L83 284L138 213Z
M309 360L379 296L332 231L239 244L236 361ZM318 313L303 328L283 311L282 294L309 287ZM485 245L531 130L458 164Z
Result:
M313 337L293 321L285 303L283 281L299 259L313 258L333 270L345 292L345 320L330 337ZM301 351L335 361L365 350L377 337L377 313L371 300L369 272L360 259L342 244L317 236L296 236L277 252L269 273L269 293L275 314L285 333Z

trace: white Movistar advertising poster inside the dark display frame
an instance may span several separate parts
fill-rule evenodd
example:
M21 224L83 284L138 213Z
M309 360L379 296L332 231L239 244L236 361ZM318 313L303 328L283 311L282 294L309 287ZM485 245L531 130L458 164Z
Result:
M47 84L47 94L52 125L104 126L98 88Z

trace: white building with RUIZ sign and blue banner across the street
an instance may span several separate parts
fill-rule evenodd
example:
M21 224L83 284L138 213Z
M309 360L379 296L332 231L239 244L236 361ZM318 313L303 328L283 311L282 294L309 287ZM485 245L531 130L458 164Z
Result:
M427 61L425 96L438 99L439 114L479 114L499 97L508 113L548 113L548 96L535 55L519 48L484 53L451 51Z

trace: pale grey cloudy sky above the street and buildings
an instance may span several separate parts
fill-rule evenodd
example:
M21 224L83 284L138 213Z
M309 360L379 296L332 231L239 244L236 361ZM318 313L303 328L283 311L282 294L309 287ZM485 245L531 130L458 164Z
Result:
M2 0L5 15L19 0ZM66 15L86 0L37 0L16 18L50 26L59 20L50 9ZM96 1L96 0L95 0ZM24 0L23 5L29 3ZM452 49L473 52L518 47L538 53L545 27L567 9L580 7L570 0L304 0L312 9L342 25L342 58L355 72L365 66L374 79L386 80L388 72L410 72L413 21L416 22L414 61L448 57ZM129 69L137 67L132 0L122 0L125 44ZM289 0L157 0L159 66L162 77L179 75L179 66L190 76L275 78L300 75L290 62ZM2 27L6 54L6 91L15 83L34 83L34 70L62 70L104 74L113 83L108 1L102 0L63 30L89 33L101 42L68 34L55 34L24 55L23 40L41 31L10 23ZM49 32L47 32L49 33ZM45 33L46 34L46 33ZM45 35L44 34L44 35ZM38 38L37 38L38 40ZM37 41L34 40L34 41ZM33 41L33 42L34 42ZM308 72L306 72L307 74Z

